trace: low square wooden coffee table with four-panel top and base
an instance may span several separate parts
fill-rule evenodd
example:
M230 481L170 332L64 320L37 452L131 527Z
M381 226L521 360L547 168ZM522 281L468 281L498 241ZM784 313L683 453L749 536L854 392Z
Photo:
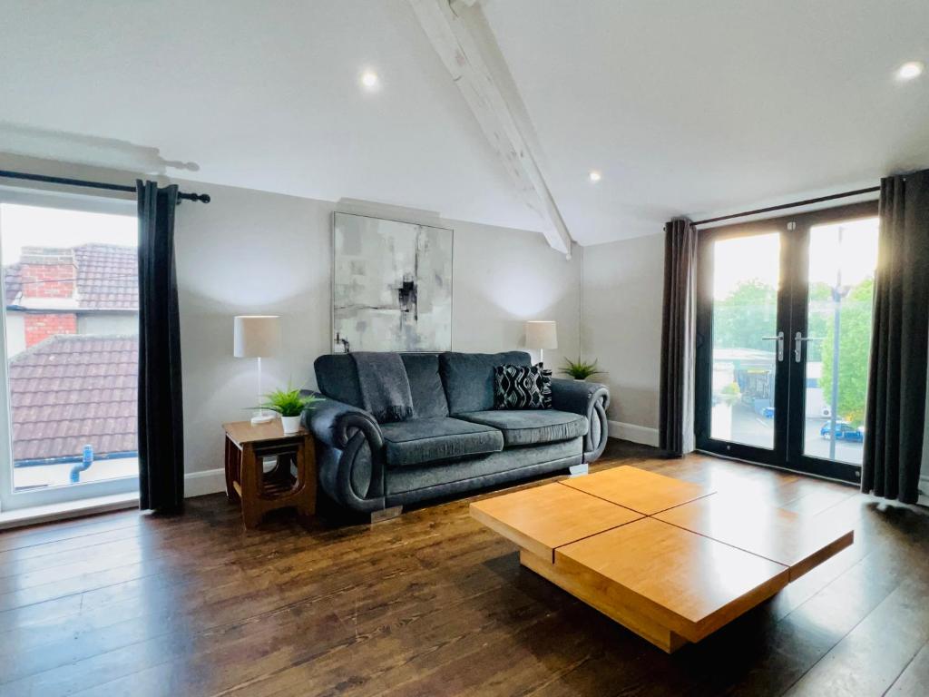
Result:
M636 467L471 504L519 561L669 653L853 542L823 515L747 505Z

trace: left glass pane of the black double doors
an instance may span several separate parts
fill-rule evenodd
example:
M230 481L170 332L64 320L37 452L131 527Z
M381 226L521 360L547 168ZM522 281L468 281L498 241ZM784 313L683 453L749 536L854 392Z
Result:
M780 234L713 243L711 438L774 448Z

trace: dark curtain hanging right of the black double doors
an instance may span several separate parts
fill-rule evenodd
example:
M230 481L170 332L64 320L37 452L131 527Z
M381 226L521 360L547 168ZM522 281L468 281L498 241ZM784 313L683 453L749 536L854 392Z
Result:
M929 342L929 170L881 180L861 491L919 497Z

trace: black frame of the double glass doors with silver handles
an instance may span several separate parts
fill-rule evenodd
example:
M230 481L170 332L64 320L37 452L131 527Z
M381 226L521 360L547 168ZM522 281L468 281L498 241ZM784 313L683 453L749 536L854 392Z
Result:
M794 336L807 336L810 228L846 220L875 217L877 201L846 204L792 216L768 218L746 223L700 230L697 276L697 351L695 362L695 419L697 449L752 463L813 474L834 480L861 480L861 466L804 454L806 345L801 342L801 360L794 355ZM719 240L780 233L780 280L778 286L777 328L783 332L783 359L777 360L774 394L774 447L758 446L711 438L713 410L713 254ZM776 349L777 353L777 349ZM867 437L867 436L866 436Z

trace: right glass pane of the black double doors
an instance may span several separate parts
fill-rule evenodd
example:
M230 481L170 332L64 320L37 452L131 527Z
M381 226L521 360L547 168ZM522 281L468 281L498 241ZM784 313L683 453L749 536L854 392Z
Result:
M861 464L877 237L876 217L810 229L804 454L813 457Z

